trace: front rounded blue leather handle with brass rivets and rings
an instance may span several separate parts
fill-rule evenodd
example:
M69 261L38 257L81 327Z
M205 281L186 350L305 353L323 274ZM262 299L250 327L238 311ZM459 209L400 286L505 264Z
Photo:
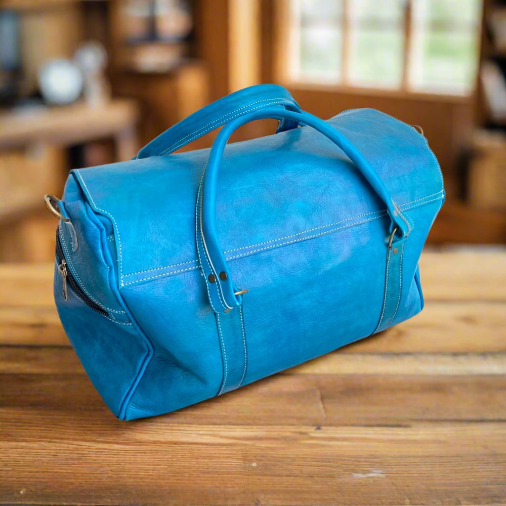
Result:
M396 241L404 240L409 233L407 221L401 215L392 197L379 179L376 172L359 150L339 131L335 130L322 119L307 112L282 111L275 107L250 112L227 123L217 135L213 147L209 153L209 160L202 175L196 208L197 252L205 275L210 304L216 312L228 312L242 303L242 294L237 292L223 255L223 249L216 233L216 184L220 162L225 146L235 130L241 125L255 119L262 118L288 118L293 121L305 123L340 147L355 164L377 195L385 203L392 220L392 237L396 235ZM247 288L247 287L246 287Z

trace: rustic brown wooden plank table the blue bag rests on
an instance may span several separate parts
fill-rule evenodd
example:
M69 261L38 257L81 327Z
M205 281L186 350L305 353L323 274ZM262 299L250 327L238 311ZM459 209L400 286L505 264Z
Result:
M409 322L125 423L68 346L53 267L1 266L0 503L506 504L506 253L420 268Z

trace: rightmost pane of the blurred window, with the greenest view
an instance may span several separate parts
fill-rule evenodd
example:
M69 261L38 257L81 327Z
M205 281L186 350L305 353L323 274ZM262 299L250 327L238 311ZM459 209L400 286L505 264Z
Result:
M409 87L433 93L472 91L480 18L480 0L414 2Z

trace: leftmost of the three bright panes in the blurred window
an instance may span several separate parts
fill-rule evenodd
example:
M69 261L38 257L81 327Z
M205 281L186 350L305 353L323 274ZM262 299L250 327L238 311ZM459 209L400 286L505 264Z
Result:
M291 0L289 73L292 79L340 82L341 8L339 0Z

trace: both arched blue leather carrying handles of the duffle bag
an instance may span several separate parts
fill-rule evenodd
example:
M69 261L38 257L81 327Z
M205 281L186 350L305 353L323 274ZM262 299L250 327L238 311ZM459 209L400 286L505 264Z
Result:
M409 234L408 222L402 216L390 192L385 187L385 184L360 151L343 134L335 130L326 121L308 112L301 111L297 103L294 102L291 97L289 99L285 99L284 97L282 99L271 98L266 99L265 102L260 102L258 99L249 100L246 105L242 106L240 106L241 102L237 102L239 99L242 101L244 93L247 93L248 97L252 99L254 97L251 97L250 93L256 90L262 90L262 93L264 93L263 90L269 91L269 89L271 91L275 89L278 95L280 89L284 90L275 85L260 85L228 95L221 101L204 107L200 111L189 116L186 120L173 126L173 128L168 129L141 149L138 155L138 158L143 158L146 156L169 154L179 147L188 144L193 139L204 135L204 133L218 128L221 124L225 124L224 128L217 135L213 147L210 150L209 159L204 169L202 182L198 190L196 208L197 252L205 282L207 283L209 301L216 312L228 312L232 308L240 306L242 304L242 294L244 293L244 290L239 290L231 279L230 271L223 255L223 249L217 236L216 186L220 162L230 136L240 126L249 121L274 118L280 120L278 132L295 128L300 124L311 126L311 128L323 134L343 150L365 177L379 198L385 203L391 219L389 249L392 248L394 239L396 242L404 241L404 238ZM289 96L286 90L284 90L284 93L284 96ZM235 98L233 98L234 96ZM218 115L217 117L217 111L219 110L218 104L223 104L222 101L224 100L226 100L226 104L233 107L233 110L228 109L226 113ZM287 100L286 104L282 103L284 100ZM260 106L259 104L266 104L270 101L275 101L276 105L285 105L287 110L283 110L280 107ZM244 102L242 103L244 104ZM207 121L203 126L201 123L197 123L197 120L200 121L202 118L209 119L209 117L213 119Z

